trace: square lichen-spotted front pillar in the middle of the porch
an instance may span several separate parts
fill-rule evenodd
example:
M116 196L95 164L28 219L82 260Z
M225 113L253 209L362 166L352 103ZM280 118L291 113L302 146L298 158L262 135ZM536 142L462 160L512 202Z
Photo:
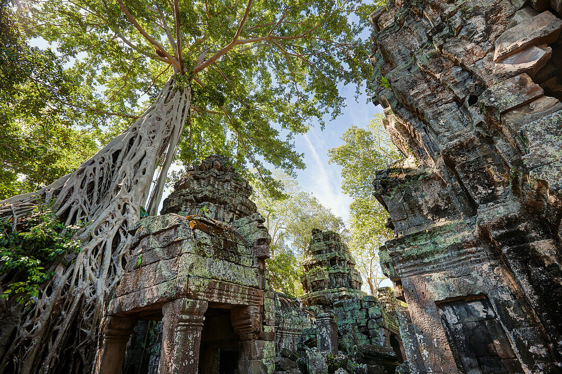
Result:
M197 374L207 301L176 299L162 307L159 374Z

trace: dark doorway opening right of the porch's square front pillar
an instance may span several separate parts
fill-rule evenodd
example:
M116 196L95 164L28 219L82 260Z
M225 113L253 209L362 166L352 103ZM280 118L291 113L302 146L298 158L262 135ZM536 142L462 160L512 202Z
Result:
M238 343L230 309L209 308L201 332L199 374L235 374L238 372Z

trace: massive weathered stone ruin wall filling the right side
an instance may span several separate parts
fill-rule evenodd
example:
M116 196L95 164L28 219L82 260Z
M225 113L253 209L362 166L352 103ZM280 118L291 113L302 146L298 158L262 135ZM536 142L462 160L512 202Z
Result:
M413 373L562 371L561 4L370 16L375 103L407 156L374 186Z

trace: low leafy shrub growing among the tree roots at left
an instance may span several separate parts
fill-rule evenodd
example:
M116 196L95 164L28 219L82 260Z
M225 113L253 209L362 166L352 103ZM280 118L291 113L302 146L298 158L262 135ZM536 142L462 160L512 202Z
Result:
M81 224L65 226L48 205L35 206L15 231L12 223L0 219L0 273L8 275L4 280L11 280L2 284L2 298L12 296L30 307L39 296L40 283L55 274L52 265L69 262L79 252L80 242L73 237Z

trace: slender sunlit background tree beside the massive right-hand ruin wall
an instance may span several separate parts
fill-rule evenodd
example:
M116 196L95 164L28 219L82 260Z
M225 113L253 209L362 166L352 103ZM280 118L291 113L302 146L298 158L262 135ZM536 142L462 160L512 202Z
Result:
M344 144L328 151L330 163L342 166L342 190L353 197L348 245L371 295L377 295L385 279L378 248L393 237L384 226L388 213L373 196L373 177L375 170L387 168L401 158L384 132L382 118L382 114L375 114L367 129L352 125L341 137Z

